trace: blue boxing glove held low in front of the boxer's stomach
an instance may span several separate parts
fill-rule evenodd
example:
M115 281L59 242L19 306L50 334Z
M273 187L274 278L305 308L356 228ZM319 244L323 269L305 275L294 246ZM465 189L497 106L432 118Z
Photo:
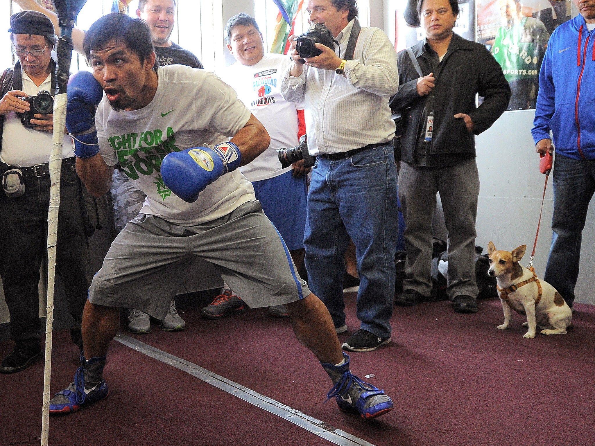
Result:
M174 194L193 203L206 186L239 166L240 149L234 143L221 143L212 149L193 147L168 153L161 163L161 177Z

